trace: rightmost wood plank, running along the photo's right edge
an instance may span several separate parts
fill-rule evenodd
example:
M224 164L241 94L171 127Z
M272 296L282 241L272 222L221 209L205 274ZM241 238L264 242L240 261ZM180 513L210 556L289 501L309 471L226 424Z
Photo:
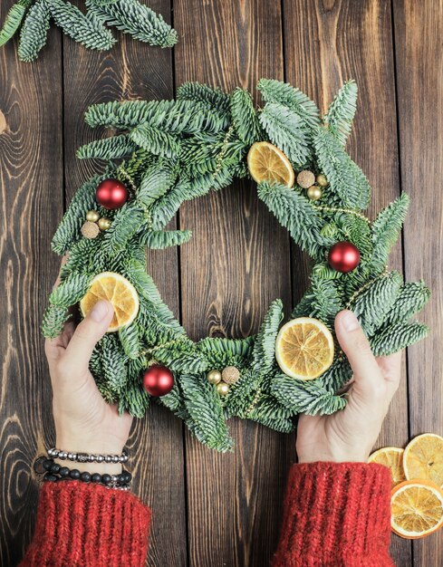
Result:
M420 320L431 333L408 350L410 436L443 435L443 4L394 0L403 190L411 197L405 224L405 271L423 278L432 296ZM443 562L443 531L413 543L414 565Z

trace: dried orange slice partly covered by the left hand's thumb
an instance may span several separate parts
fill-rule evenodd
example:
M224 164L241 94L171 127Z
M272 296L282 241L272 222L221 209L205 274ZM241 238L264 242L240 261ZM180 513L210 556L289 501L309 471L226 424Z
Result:
M102 272L93 278L91 287L80 302L83 317L86 317L101 299L111 302L114 308L108 332L118 331L120 327L129 325L139 312L139 295L135 287L115 272Z

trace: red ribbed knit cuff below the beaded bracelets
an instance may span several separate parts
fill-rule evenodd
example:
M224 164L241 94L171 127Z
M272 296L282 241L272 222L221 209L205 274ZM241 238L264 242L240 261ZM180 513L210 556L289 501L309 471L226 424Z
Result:
M140 567L150 510L129 492L79 481L47 482L22 567Z

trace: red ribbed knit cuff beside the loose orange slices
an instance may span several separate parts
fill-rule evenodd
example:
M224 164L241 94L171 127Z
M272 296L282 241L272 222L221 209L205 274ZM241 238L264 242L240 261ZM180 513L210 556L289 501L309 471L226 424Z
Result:
M390 471L375 463L291 468L273 567L391 567Z

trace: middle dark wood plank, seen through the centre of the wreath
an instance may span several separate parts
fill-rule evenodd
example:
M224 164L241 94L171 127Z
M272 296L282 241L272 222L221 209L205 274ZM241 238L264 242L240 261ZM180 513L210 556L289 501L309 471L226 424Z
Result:
M174 14L177 84L255 92L260 77L283 78L278 3L176 0ZM288 235L257 201L255 185L187 203L179 217L193 231L181 253L183 323L193 339L256 332L276 297L290 308ZM197 567L260 567L274 551L294 436L236 419L230 427L230 455L187 436L189 561Z

